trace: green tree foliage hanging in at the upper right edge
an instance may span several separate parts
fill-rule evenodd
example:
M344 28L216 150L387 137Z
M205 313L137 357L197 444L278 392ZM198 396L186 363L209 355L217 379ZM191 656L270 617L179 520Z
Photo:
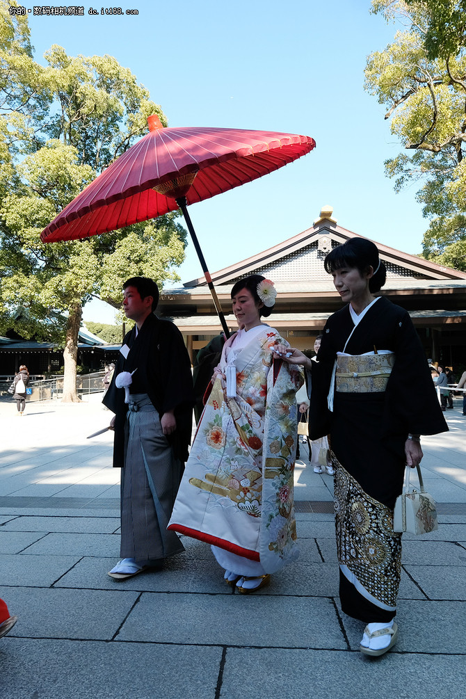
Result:
M466 270L466 0L373 0L402 29L367 58L365 88L405 151L386 161L395 189L421 185L423 255Z

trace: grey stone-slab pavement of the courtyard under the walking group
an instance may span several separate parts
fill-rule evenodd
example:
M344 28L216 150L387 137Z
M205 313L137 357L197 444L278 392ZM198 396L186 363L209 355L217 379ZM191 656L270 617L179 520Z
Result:
M0 403L0 699L358 699L466 696L466 418L423 438L439 531L405 536L400 640L379 660L340 611L332 479L296 469L297 563L233 593L210 548L117 583L119 472L110 413L89 403Z

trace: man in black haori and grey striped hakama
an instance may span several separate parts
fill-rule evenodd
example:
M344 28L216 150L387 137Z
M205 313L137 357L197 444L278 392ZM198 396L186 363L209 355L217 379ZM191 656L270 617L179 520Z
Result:
M184 550L166 531L191 439L191 362L175 324L154 311L159 289L149 278L123 286L123 309L136 322L126 334L103 398L115 412L113 466L122 467L119 561L108 575L126 579Z

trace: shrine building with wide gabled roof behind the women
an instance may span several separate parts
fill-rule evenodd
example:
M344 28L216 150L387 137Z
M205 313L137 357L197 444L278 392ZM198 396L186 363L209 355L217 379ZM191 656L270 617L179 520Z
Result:
M328 316L342 307L323 260L336 245L361 237L337 225L332 215L330 207L323 208L306 231L212 273L232 332L237 325L231 312L231 287L249 274L262 274L275 282L278 292L269 324L294 347L312 349ZM387 270L381 294L409 312L426 356L448 366L465 366L466 273L373 242ZM181 288L164 289L157 314L173 319L184 336L191 361L198 349L221 331L205 277Z

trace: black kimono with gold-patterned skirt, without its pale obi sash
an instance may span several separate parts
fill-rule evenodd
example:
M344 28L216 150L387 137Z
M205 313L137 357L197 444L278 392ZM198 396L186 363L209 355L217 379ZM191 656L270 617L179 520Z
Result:
M354 329L349 306L323 330L312 367L310 438L330 434L335 468L335 526L342 610L365 623L391 621L400 583L401 535L393 507L402 492L408 433L448 430L427 359L407 311L382 297ZM394 353L386 387L327 396L337 352ZM356 382L357 384L357 382Z

